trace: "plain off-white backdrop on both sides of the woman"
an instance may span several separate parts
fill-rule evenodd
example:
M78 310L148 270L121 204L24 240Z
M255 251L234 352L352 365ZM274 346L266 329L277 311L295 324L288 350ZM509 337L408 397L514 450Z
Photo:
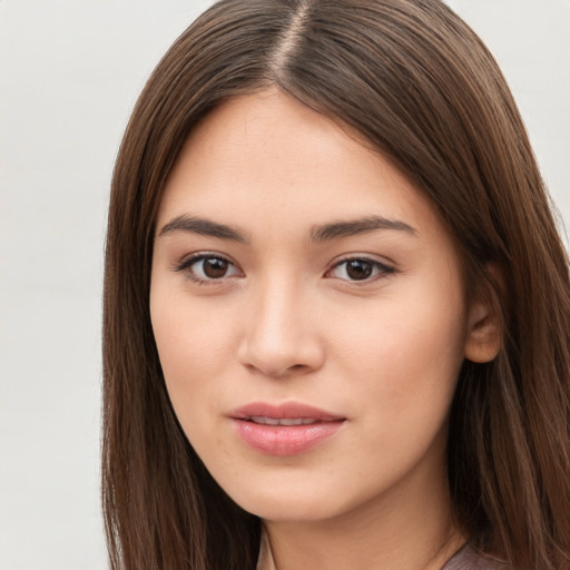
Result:
M100 308L130 109L206 0L0 0L0 570L104 570ZM570 0L450 0L570 220Z

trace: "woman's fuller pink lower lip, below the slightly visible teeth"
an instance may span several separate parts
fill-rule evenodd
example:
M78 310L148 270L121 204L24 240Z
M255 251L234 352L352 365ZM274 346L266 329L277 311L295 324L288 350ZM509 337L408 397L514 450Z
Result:
M307 425L266 425L234 419L233 424L239 438L256 451L267 455L297 455L332 438L344 421Z

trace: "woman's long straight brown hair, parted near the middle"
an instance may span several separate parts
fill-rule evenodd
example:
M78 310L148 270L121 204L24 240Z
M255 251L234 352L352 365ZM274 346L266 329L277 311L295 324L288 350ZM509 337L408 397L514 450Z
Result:
M170 406L149 318L155 218L195 125L278 86L348 126L425 193L469 295L501 315L451 410L458 523L513 568L570 568L568 257L493 58L439 0L225 0L148 80L112 179L104 315L102 500L115 570L255 568L259 520L210 478ZM492 271L490 271L492 268Z

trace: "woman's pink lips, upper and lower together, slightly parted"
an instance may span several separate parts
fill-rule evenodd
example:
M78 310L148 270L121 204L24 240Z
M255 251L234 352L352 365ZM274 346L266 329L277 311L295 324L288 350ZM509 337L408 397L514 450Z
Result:
M273 405L255 402L229 414L239 438L267 455L296 455L317 446L334 435L345 417L296 402ZM255 420L255 421L254 421ZM301 425L259 423L278 420L304 421Z

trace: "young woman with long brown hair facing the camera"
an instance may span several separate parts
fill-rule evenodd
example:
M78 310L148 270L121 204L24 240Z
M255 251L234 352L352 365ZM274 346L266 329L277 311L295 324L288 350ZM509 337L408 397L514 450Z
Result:
M114 568L570 568L568 258L435 0L229 0L112 183Z

